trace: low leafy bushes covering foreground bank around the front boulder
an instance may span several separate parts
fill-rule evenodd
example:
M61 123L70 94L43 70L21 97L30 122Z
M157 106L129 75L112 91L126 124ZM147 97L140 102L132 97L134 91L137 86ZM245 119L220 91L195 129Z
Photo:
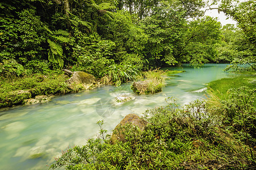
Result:
M241 138L233 137L229 127L221 123L225 115L209 115L211 112L205 101L196 100L184 108L178 108L173 99L167 99L167 103L166 107L145 112L144 118L150 124L144 131L125 126L127 142L112 145L105 137L106 131L100 128L102 139L89 139L85 146L62 152L51 168L255 168L255 150ZM250 126L245 128L251 129ZM236 130L242 133L242 129Z

